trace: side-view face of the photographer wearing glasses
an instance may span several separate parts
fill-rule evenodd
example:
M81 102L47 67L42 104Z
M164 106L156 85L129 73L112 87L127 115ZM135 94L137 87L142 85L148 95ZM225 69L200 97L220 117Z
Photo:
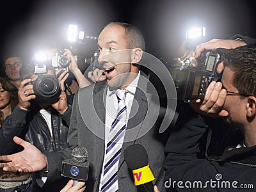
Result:
M229 67L225 67L221 81L223 88L227 90L227 97L223 109L228 111L228 116L225 116L226 121L239 126L246 122L246 103L248 99L247 97L235 94L238 93L238 90L232 84L233 76L234 72Z

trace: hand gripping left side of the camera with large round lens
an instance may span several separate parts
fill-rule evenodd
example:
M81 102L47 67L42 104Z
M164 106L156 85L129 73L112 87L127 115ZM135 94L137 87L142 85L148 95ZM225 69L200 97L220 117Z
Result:
M31 82L31 79L25 79L24 81L21 81L18 92L18 107L25 111L28 111L31 106L30 100L36 98L35 92L33 90L33 84L26 85L29 82Z

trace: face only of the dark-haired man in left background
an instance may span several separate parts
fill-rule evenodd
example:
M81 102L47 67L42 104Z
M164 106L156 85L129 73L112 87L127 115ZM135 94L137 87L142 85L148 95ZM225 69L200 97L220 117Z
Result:
M18 57L8 58L5 61L4 65L5 65L6 76L8 76L8 78L11 81L17 81L20 79L19 70L20 70L20 67L22 66L20 58Z

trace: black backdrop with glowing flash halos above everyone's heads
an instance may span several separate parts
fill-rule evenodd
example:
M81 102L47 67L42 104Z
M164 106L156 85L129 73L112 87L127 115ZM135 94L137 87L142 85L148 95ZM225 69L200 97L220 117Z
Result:
M97 40L68 43L68 24L77 24L85 35L98 36L109 21L129 22L145 36L147 52L166 61L177 56L190 26L206 27L207 36L198 43L235 34L256 37L253 0L26 0L4 4L0 12L1 58L10 50L29 57L45 44L72 45L80 58L92 56Z

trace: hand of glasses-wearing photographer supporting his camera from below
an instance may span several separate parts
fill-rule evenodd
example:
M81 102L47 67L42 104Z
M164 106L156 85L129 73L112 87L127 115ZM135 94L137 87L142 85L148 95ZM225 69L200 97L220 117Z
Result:
M222 89L220 82L212 81L209 84L203 101L193 100L190 106L198 113L206 116L227 116L228 111L222 110L227 91Z

